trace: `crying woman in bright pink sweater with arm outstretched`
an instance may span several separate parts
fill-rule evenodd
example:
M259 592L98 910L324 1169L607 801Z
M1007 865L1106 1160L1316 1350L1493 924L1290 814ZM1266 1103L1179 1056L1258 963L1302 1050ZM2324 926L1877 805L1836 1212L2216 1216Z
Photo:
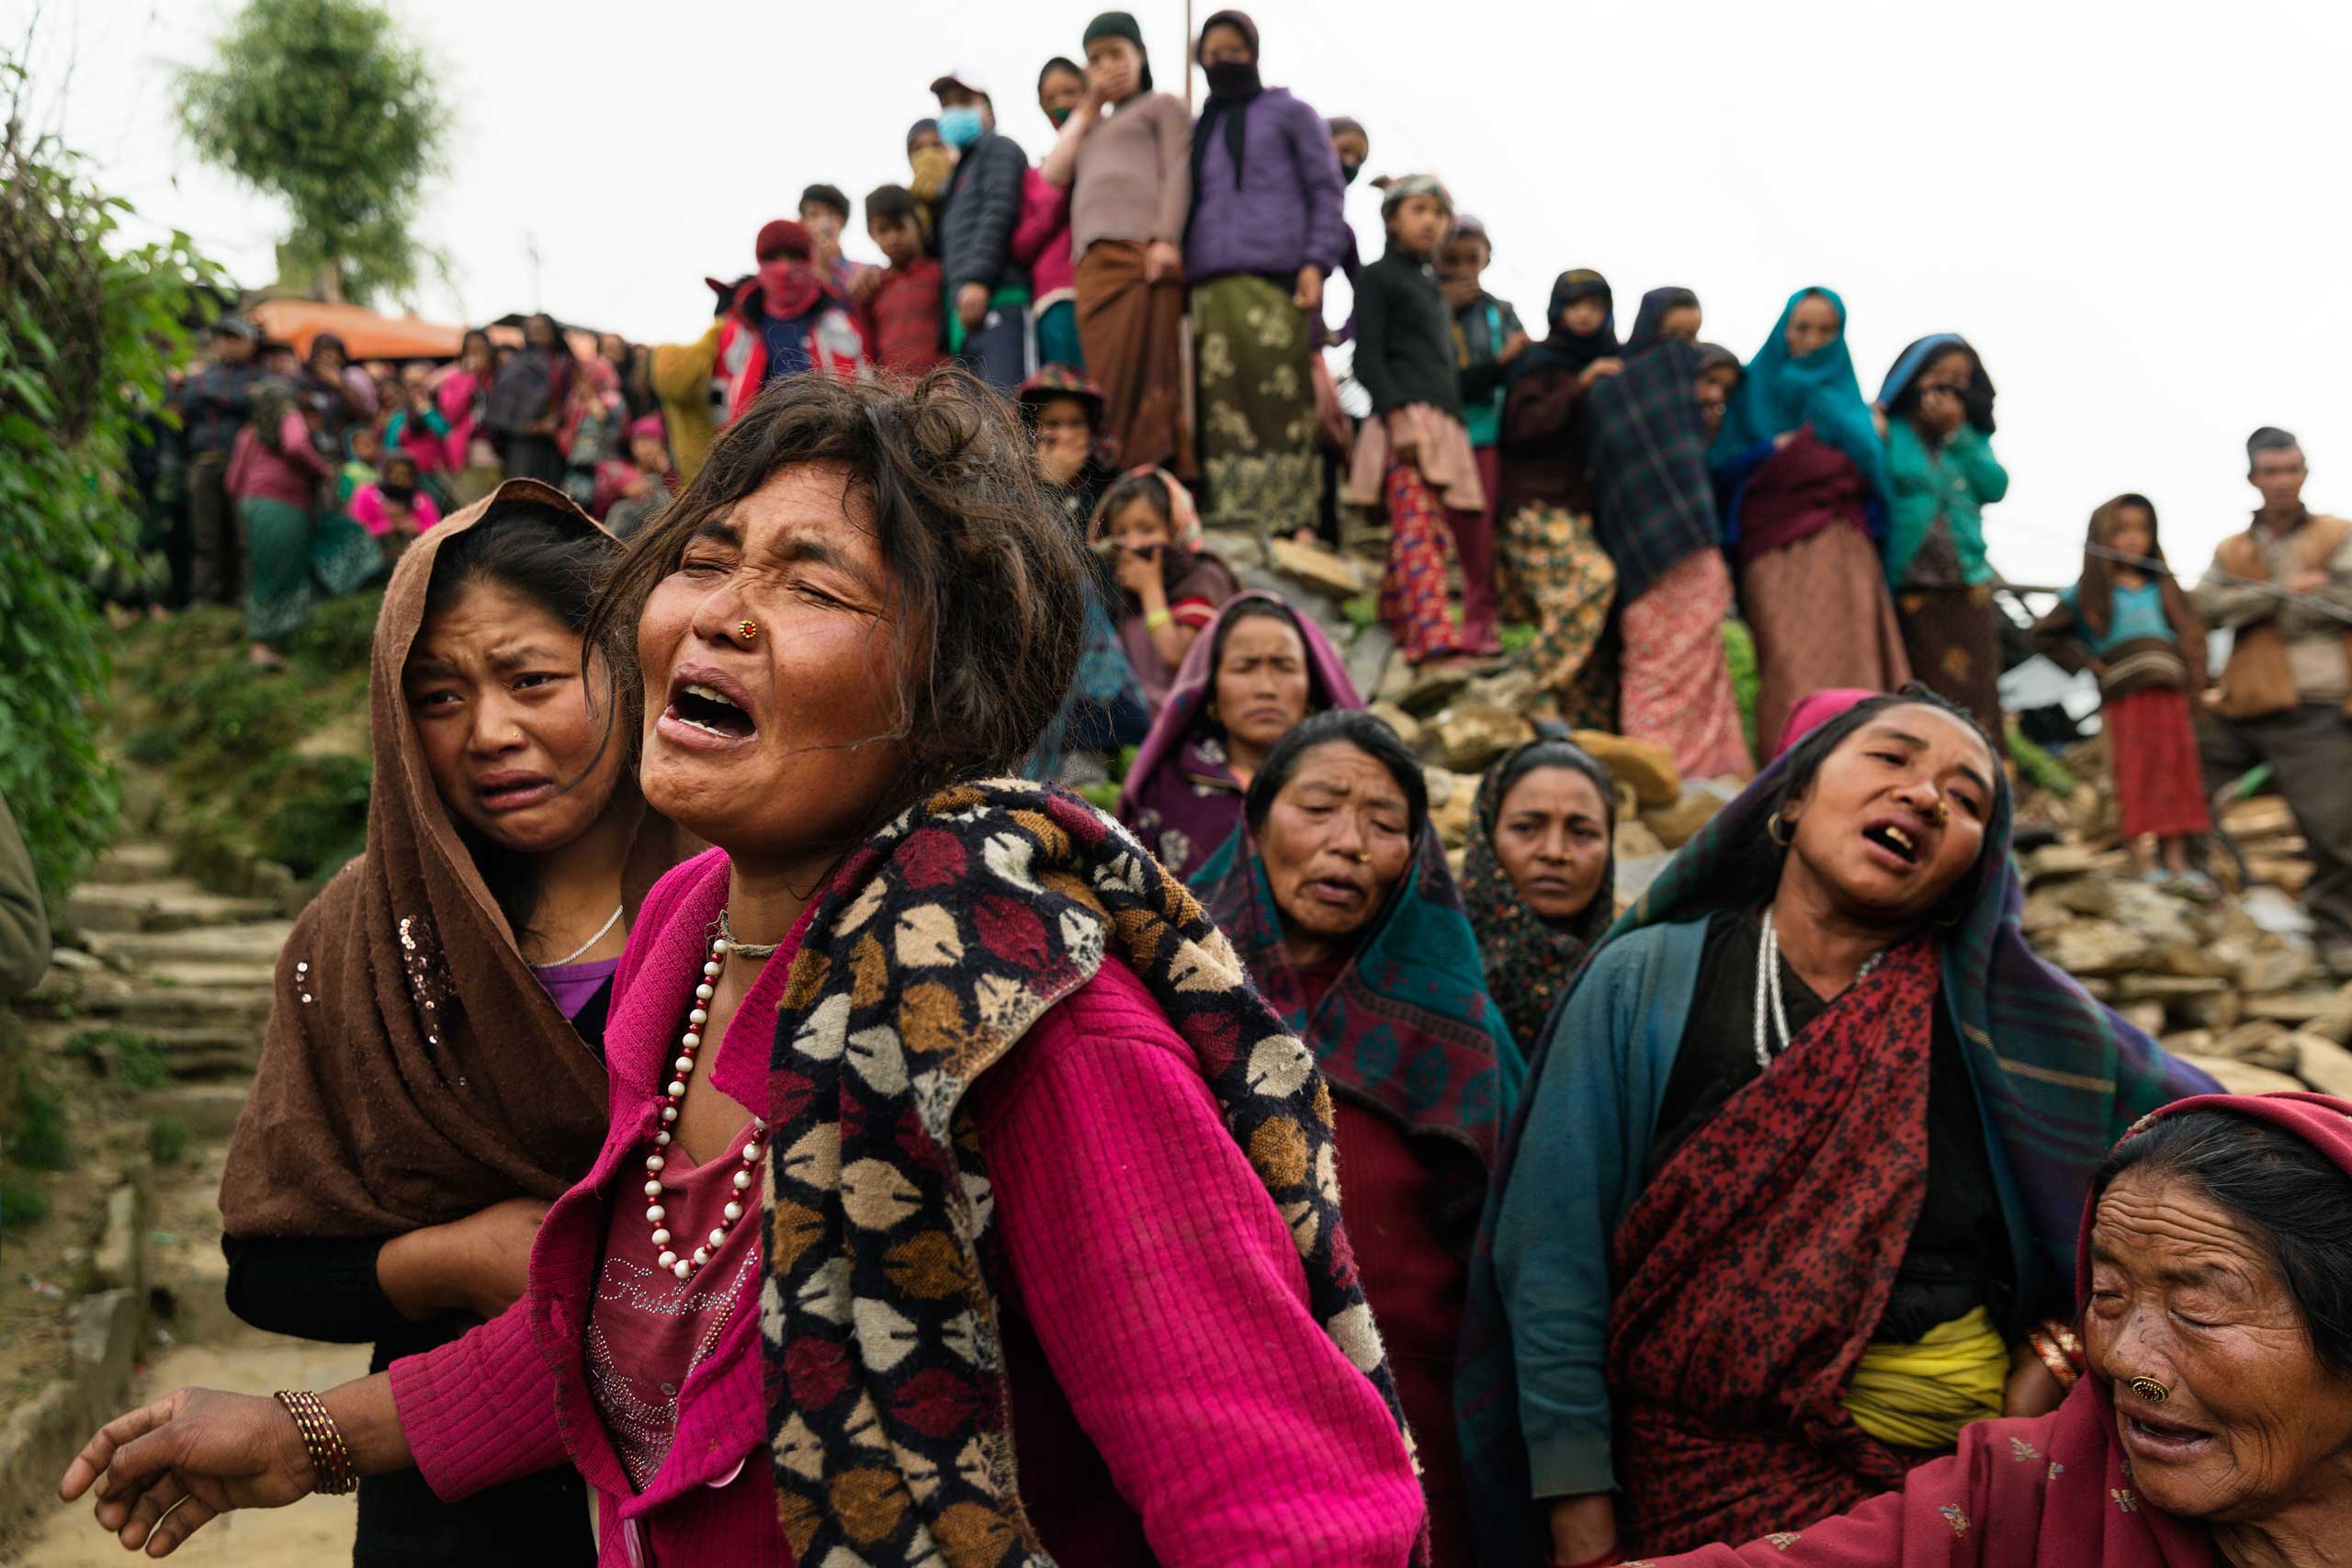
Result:
M1423 1559L1312 1053L1122 827L1004 778L1084 571L957 371L729 425L590 625L717 849L628 936L529 1293L325 1394L169 1394L64 1493L169 1549L569 1460L612 1566Z

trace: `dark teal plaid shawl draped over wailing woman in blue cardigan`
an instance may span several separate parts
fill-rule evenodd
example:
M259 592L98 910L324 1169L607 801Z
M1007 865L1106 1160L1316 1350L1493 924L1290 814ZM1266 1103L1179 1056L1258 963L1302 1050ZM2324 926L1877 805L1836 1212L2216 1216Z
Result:
M1766 816L1790 766L1776 759L1724 811L1668 860L1649 891L1609 929L1602 947L1642 931L1700 922L1717 910L1762 903L1769 886L1752 875ZM1999 797L1985 823L1985 860L1976 896L1957 926L1936 926L1943 1004L1959 1025L1978 1103L1997 1133L1994 1180L2011 1225L2018 1300L2063 1295L2074 1279L2074 1248L2091 1173L2117 1138L2147 1112L2183 1095L2213 1093L2213 1079L2169 1058L2157 1041L2093 1001L2065 971L2034 957L2018 917L2025 884L2009 853L2013 802L1999 773ZM1569 987L1573 994L1573 985ZM1566 994L1562 997L1562 1004ZM1559 1013L1552 1013L1557 1023ZM1522 1114L1510 1126L1486 1197L1486 1220L1470 1258L1470 1305L1456 1410L1463 1465L1475 1476L1482 1537L1508 1533L1496 1509L1529 1516L1526 1448L1519 1439L1517 1368L1510 1321L1494 1269L1494 1222L1536 1100L1545 1046L1534 1051ZM2020 1234L2023 1229L2023 1234ZM1529 1533L1534 1549L1536 1535Z

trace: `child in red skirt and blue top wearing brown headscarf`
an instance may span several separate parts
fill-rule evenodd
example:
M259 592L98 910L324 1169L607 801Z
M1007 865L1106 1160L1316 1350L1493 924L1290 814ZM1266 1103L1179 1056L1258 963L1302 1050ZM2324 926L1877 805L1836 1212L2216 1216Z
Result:
M2213 879L2190 870L2190 842L2213 830L2190 710L2204 689L2204 621L2164 564L2147 496L2091 512L2082 581L2058 595L2032 639L2058 668L2098 677L2131 870L2213 896Z

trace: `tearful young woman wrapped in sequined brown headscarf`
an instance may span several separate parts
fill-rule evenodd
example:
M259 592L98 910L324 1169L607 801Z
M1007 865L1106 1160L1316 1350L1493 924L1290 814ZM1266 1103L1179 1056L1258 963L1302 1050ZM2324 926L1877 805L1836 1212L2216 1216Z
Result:
M376 618L367 851L278 959L221 1180L228 1302L374 1366L496 1316L604 1140L604 1009L630 912L682 858L588 602L619 543L517 480L423 534ZM355 1563L586 1563L579 1476L445 1505L360 1486Z

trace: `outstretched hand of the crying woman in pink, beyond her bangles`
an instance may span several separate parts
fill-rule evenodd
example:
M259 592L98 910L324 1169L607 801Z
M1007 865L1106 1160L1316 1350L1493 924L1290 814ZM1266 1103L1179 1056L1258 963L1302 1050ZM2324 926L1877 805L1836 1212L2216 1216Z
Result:
M99 1427L56 1493L96 1490L99 1523L167 1556L228 1509L280 1509L318 1486L294 1418L275 1399L179 1389Z

